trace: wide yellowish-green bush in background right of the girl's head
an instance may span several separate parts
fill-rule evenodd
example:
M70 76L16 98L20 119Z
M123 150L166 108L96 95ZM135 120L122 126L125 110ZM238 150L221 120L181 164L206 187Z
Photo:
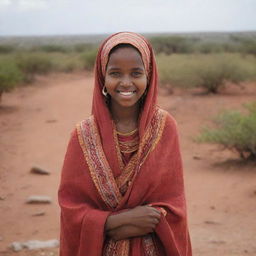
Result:
M227 81L238 84L256 78L254 58L238 54L165 54L157 55L162 85L203 87L218 93Z

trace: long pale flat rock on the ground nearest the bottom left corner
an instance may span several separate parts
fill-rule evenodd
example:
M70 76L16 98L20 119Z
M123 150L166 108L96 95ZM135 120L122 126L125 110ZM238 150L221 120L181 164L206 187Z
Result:
M39 241L39 240L29 240L27 242L13 242L10 247L14 251L20 251L23 248L34 250L34 249L43 249L43 248L53 248L58 247L59 241L57 239L48 240L48 241Z

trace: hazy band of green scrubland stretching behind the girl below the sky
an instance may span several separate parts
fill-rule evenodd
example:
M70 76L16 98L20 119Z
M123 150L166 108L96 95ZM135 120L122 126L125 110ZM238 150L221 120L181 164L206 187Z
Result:
M10 84L15 86L21 81L32 81L36 74L92 70L98 42L103 37L4 39L0 41L0 66L13 63L6 65L5 70L10 72L5 71L4 80L10 77ZM227 81L239 83L256 77L255 33L148 37L157 53L160 82L167 88L203 87L217 93ZM15 75L11 78L12 72L21 74L19 79Z

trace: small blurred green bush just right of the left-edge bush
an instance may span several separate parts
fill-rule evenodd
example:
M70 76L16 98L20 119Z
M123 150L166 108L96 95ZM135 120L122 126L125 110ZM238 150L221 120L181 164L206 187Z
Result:
M18 55L16 62L24 73L26 82L33 81L36 74L47 74L54 69L51 58L44 54Z

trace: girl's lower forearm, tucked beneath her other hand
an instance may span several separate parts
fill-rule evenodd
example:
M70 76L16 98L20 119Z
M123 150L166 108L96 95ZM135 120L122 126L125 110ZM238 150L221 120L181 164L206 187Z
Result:
M153 232L151 228L140 228L132 225L121 226L107 232L107 235L115 241L128 239L136 236L144 236Z

